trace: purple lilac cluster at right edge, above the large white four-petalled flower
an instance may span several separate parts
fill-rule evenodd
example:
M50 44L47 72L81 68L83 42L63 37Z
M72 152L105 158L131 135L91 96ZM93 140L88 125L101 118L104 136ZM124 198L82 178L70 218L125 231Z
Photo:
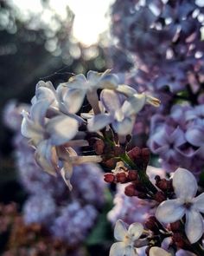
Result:
M204 160L203 105L175 105L169 115L154 115L150 126L150 150L159 154L162 166L171 172L182 163L194 174ZM196 162L194 161L196 157Z

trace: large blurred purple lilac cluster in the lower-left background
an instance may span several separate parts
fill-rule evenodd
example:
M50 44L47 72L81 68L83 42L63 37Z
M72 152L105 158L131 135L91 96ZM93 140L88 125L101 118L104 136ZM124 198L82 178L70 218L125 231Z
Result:
M29 192L23 205L24 221L27 225L41 224L52 237L63 240L68 246L78 246L91 231L105 202L102 170L95 163L73 167L72 194L61 177L42 172L35 162L35 149L20 133L22 107L25 105L10 102L4 109L4 120L16 131L16 165L20 181ZM26 108L29 110L29 105ZM14 118L8 119L8 115Z

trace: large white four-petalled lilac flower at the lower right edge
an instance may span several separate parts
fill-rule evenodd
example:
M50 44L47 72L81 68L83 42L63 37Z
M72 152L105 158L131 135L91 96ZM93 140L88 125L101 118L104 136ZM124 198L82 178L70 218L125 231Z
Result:
M204 231L201 213L204 213L204 193L194 197L198 185L187 169L178 168L173 176L176 199L165 200L156 210L156 218L163 223L173 223L186 215L185 232L193 244Z

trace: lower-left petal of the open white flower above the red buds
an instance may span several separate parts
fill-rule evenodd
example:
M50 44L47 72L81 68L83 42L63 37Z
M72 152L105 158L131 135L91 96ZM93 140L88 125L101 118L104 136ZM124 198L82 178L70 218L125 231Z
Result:
M112 121L112 117L106 114L93 115L91 119L88 119L87 128L90 132L99 131L105 128Z

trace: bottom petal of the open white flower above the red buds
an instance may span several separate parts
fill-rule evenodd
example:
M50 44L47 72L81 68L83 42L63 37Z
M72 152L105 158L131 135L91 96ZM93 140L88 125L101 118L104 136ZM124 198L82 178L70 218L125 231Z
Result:
M135 124L135 118L125 117L123 121L113 121L112 128L118 135L130 135Z

